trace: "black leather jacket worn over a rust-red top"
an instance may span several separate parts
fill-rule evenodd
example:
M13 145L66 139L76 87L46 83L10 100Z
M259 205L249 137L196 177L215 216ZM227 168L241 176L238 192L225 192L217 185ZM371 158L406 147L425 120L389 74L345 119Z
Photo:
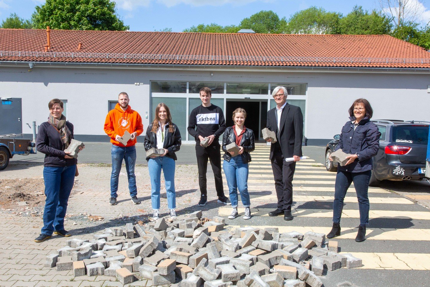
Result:
M224 158L224 160L230 161L231 159L231 154L225 147L232 142L236 142L236 136L234 135L233 127L227 127L224 131L224 135L222 136L222 150L225 152L222 158ZM251 154L249 153L255 150L254 132L252 130L245 130L242 140L240 141L240 146L243 147L243 154L240 154L243 163L249 163L251 161Z

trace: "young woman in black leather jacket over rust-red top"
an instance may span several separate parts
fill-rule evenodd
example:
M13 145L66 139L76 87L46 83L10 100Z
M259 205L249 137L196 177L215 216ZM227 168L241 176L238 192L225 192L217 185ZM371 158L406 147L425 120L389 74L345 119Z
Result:
M251 151L255 149L254 132L247 129L243 124L246 119L246 111L243 108L237 108L233 111L233 127L227 127L222 137L222 150L224 162L222 168L227 179L228 190L230 193L231 207L233 210L228 216L229 219L235 219L237 212L237 189L240 192L240 199L245 207L243 219L251 218L251 203L248 193L248 172L249 162L251 161ZM239 146L237 155L233 151L227 151L227 145L235 142ZM233 156L234 155L234 156Z

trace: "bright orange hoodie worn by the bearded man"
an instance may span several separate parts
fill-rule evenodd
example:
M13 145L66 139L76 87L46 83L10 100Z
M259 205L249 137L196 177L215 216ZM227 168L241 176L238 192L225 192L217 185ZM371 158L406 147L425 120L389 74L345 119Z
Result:
M120 104L107 113L106 120L104 121L104 132L111 137L111 143L118 146L124 146L122 143L117 142L115 137L117 135L123 136L125 131L129 133L137 132L134 139L130 139L126 146L135 145L137 136L143 132L142 118L137 111L132 110L130 106L126 111L123 111Z

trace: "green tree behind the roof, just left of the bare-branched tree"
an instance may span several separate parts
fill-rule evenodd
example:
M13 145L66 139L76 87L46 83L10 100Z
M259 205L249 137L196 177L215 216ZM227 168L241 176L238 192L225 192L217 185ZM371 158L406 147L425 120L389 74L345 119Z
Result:
M390 34L391 23L381 12L363 11L362 6L354 6L352 12L339 20L341 34L381 35Z

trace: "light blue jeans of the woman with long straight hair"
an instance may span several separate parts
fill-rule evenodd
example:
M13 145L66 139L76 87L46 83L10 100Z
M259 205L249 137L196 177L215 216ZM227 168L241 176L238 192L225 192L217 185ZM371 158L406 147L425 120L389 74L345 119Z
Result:
M152 209L160 208L160 178L163 170L166 182L167 207L176 208L175 192L175 160L171 157L156 157L148 160L149 176L151 178Z

